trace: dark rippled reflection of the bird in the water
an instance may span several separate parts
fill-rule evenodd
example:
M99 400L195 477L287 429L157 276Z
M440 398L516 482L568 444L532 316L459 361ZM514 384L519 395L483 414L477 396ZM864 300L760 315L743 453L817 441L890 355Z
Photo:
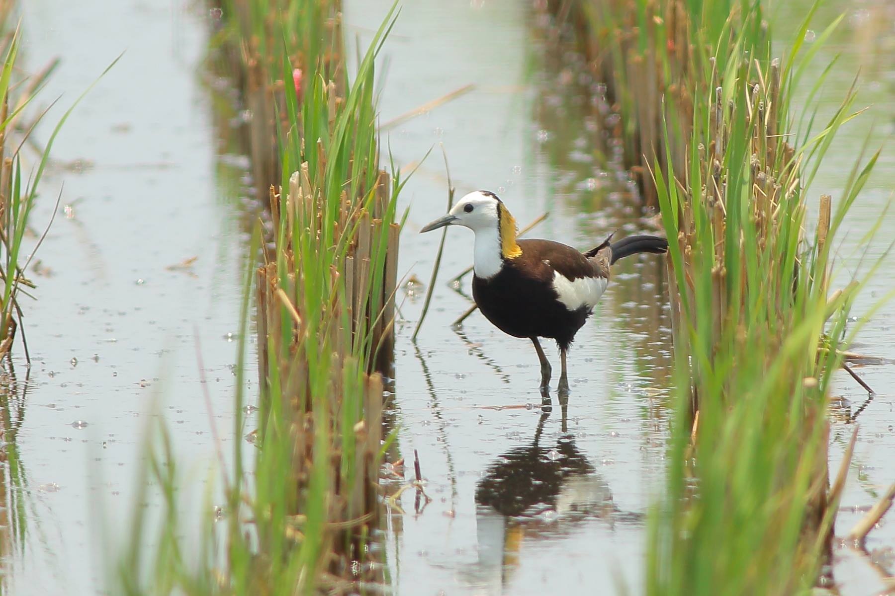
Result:
M524 541L560 538L586 519L610 525L643 519L613 503L609 484L567 433L567 396L560 394L559 404L562 436L541 441L552 411L545 394L533 441L498 457L476 487L478 560L460 574L475 594L505 593Z

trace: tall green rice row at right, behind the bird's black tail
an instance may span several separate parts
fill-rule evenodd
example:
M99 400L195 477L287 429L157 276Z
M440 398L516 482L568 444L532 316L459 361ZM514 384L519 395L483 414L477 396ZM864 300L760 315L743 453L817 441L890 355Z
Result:
M791 97L836 23L803 47L815 4L778 61L761 2L553 9L572 16L607 81L626 164L669 237L677 398L647 592L804 591L830 548L842 479L829 487L827 396L861 287L830 293L830 247L876 160L807 222L814 172L855 94L821 130ZM809 98L823 77L813 85Z

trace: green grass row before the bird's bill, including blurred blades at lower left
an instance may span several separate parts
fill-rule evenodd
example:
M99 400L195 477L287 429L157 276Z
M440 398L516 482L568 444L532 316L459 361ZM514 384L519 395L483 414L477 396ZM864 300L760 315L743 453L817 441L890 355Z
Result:
M282 4L282 21L276 9L266 21L289 30L300 13L317 20L316 28L306 23L301 30L324 30L322 13L296 8L314 3ZM255 14L267 3L243 5ZM125 593L343 592L383 581L382 566L365 549L376 527L385 449L383 381L370 373L380 367L394 316L396 197L403 184L396 172L389 180L379 170L373 89L375 57L393 19L394 9L354 77L343 63L332 68L318 55L300 93L286 88L271 96L282 100L273 133L281 185L269 196L272 246L261 251L260 269L257 243L249 259L226 520L215 524L209 504L200 548L184 546L177 531L182 479L163 429L143 478L158 484L165 509L158 526L141 509L134 515L129 549L116 569L115 583ZM268 72L268 88L291 80L292 38L280 38L286 45L279 70ZM253 295L261 390L254 461L245 466L243 359ZM144 484L141 499L147 496Z

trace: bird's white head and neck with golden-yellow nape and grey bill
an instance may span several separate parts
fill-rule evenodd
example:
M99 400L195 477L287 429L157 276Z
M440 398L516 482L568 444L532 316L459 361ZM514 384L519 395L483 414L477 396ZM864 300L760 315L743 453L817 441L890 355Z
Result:
M516 243L516 220L488 190L476 190L461 198L447 215L423 226L421 232L446 225L462 225L475 232L475 273L480 277L490 277L500 270L503 259L522 254Z

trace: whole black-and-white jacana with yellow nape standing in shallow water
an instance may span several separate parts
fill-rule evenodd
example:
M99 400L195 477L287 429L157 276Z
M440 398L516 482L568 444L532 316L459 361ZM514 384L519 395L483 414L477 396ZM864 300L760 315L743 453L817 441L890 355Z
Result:
M475 232L475 304L500 331L532 340L541 360L541 389L550 383L550 362L538 338L556 340L562 363L558 389L567 391L568 347L609 285L610 265L637 253L668 251L668 241L657 236L609 242L610 236L585 253L551 240L516 239L516 221L487 190L466 195L421 232L446 225Z

